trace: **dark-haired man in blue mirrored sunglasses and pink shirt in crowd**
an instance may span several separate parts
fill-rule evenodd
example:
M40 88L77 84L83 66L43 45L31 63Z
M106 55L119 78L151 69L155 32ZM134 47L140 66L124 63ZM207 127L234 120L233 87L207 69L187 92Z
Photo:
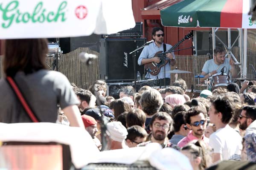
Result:
M185 115L186 127L190 129L189 134L178 142L178 147L183 147L192 140L201 139L205 143L209 143L209 139L204 136L207 120L204 113L194 108L187 111Z

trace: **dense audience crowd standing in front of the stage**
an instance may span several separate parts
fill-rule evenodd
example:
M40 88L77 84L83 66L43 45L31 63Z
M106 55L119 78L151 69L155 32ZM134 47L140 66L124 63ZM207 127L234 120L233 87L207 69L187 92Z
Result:
M189 157L194 169L205 169L222 160L256 161L256 85L250 86L250 92L245 94L228 87L202 92L194 99L186 95L183 79L166 89L143 86L138 93L132 86L124 86L119 89L119 99L106 96L106 83L102 80L92 88L98 90L94 91L96 96L88 90L74 90L81 104L85 103L79 105L82 117L95 119L90 127L95 130L88 132L99 149L102 111L108 119L108 149L157 142L163 148L180 150ZM92 103L93 108L89 107ZM87 124L84 122L86 128Z

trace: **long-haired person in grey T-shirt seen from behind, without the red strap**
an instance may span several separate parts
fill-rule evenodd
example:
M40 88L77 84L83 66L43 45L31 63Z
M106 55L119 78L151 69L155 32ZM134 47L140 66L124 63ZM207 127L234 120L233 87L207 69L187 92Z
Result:
M20 88L38 122L56 122L58 106L71 126L84 127L77 105L79 100L67 77L47 71L47 39L4 40L3 71ZM0 80L0 122L34 122L6 79Z

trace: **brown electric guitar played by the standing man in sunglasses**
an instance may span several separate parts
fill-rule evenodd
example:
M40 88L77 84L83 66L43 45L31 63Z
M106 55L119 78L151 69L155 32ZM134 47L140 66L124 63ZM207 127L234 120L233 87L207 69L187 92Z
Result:
M179 42L177 42L177 44L175 44L174 46L172 46L172 48L170 48L168 51L173 51L175 48L177 48L183 41L188 40L189 38L193 37L193 33L190 32L189 34L187 34L182 40L180 40ZM168 52L166 51L166 52ZM169 60L165 60L166 54L161 54L163 53L163 51L158 51L154 57L159 57L160 58L160 62L157 64L156 62L149 62L147 64L144 65L145 70L150 73L153 76L156 76L160 70L161 67L163 67L164 65L166 65L168 63Z

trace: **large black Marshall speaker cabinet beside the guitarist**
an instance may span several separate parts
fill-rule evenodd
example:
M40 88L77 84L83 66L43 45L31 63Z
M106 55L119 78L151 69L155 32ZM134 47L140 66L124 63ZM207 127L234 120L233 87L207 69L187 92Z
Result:
M134 66L133 56L129 54L136 48L145 44L145 38L102 38L100 40L99 70L100 79L106 82L133 81ZM144 74L144 66L138 65L142 49L136 52L136 73Z

